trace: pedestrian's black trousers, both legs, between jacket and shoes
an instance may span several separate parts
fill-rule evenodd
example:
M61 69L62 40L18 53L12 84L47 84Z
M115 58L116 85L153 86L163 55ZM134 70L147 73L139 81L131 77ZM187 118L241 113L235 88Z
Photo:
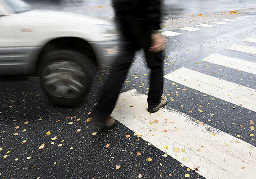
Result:
M112 64L110 75L103 87L97 106L93 110L93 117L104 122L115 108L122 84L127 76L136 50L144 49L148 67L150 68L150 90L148 93L148 106L159 104L163 93L163 60L162 51L152 53L151 32L140 26L124 23L120 26L122 43L120 53Z

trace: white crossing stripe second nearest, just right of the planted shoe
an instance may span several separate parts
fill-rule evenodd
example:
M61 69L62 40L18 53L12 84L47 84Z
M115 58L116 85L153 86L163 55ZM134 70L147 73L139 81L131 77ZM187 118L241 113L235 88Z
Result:
M164 76L181 85L201 91L256 112L256 90L188 68L179 68Z

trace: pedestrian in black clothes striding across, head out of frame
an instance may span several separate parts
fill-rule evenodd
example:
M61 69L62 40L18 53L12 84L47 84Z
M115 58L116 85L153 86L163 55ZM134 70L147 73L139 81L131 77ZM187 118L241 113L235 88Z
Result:
M122 84L127 76L135 51L144 49L150 68L150 90L147 111L154 113L164 107L167 98L163 93L164 38L160 29L161 0L112 0L115 21L121 35L120 53L112 64L110 75L92 116L104 128L111 128L115 119L110 117L115 108Z

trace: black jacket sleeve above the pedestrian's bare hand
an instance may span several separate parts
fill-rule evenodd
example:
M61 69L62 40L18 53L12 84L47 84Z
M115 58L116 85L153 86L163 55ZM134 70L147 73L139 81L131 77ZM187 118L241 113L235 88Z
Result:
M146 0L146 13L150 21L150 30L159 30L161 23L161 1Z

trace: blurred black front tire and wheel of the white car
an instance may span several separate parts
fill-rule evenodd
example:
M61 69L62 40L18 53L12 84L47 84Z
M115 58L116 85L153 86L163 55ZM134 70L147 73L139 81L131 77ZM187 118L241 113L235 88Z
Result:
M40 81L51 102L74 106L88 94L95 66L82 53L54 50L40 60Z

